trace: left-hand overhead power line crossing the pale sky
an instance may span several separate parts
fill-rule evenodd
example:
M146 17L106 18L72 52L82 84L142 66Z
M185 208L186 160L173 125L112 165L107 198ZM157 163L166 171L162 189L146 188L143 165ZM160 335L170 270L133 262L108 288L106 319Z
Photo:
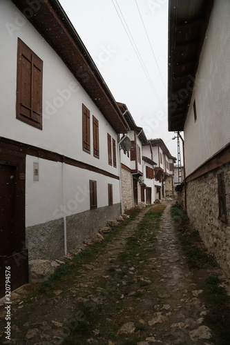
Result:
M116 3L117 3L117 0L115 0L115 1L116 1ZM157 98L157 101L159 102L159 104L160 104L160 106L161 106L163 112L165 112L164 107L162 106L162 102L160 101L160 98L158 97L157 92L156 92L156 90L155 90L155 87L154 87L154 85L153 85L153 81L151 80L151 77L150 77L150 75L149 75L149 73L148 73L148 70L146 69L146 66L145 66L145 64L144 64L144 61L143 61L143 59L142 59L142 57L141 57L141 55L140 55L140 51L138 50L137 45L135 44L135 40L133 39L133 36L132 36L132 34L131 34L131 31L130 31L129 28L128 28L128 25L127 25L127 23L126 23L126 20L124 19L124 16L123 16L123 14L122 14L122 10L119 8L119 5L118 5L118 3L117 3L117 7L119 8L119 12L121 13L124 22L122 21L122 18L121 18L121 16L120 16L119 12L117 11L117 8L116 8L115 3L114 3L113 0L112 0L112 2L113 2L113 6L115 7L115 10L116 10L116 12L117 12L117 14L118 14L118 17L119 17L120 21L122 22L122 26L124 27L124 30L126 31L126 34L127 34L127 36L128 36L128 39L129 39L129 41L131 42L131 45L133 46L133 49L134 49L134 51L135 51L135 54L137 55L137 59L140 61L140 64L141 64L141 66L142 66L142 69L144 70L144 73L145 73L145 75L146 75L146 77L147 77L147 79L148 79L148 82L149 82L150 85L151 85L151 88L152 88L152 90L153 90L153 92L154 92L154 94L155 94L155 97ZM126 27L124 26L124 23L126 24L127 29L126 29ZM128 30L128 31L127 31L127 30ZM128 34L128 32L129 32L129 34ZM132 41L131 39L132 39L133 41Z

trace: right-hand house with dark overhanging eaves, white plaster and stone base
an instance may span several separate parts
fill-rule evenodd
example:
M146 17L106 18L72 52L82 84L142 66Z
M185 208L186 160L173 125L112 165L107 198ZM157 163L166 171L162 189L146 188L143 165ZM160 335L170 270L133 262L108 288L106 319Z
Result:
M169 130L184 130L186 210L230 273L230 1L169 3Z

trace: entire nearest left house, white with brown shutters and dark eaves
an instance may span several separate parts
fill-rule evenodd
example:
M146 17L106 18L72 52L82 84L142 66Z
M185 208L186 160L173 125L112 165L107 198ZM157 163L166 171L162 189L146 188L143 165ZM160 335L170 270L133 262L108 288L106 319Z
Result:
M120 215L127 128L58 1L1 0L0 21L2 295L5 266L16 288Z

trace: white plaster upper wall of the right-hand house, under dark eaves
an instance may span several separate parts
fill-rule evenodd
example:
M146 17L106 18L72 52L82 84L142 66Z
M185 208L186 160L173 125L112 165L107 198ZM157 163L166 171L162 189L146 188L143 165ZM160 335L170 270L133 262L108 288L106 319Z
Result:
M230 141L229 12L228 0L214 1L191 99L197 120L190 106L184 126L186 176Z

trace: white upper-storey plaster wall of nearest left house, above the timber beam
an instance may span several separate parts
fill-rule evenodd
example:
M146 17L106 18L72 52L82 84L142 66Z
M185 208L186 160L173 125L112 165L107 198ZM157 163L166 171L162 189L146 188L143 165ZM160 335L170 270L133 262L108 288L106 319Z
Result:
M117 134L64 62L11 1L0 2L0 22L0 39L4 47L0 51L0 59L2 66L5 66L1 70L0 81L1 136L51 150L119 175L118 167L108 165L107 152L107 132L116 143ZM17 26L17 23L22 24ZM9 31L9 28L13 29ZM18 37L44 61L43 130L16 119ZM90 155L82 150L82 103L90 110ZM99 121L99 159L93 157L92 115Z

